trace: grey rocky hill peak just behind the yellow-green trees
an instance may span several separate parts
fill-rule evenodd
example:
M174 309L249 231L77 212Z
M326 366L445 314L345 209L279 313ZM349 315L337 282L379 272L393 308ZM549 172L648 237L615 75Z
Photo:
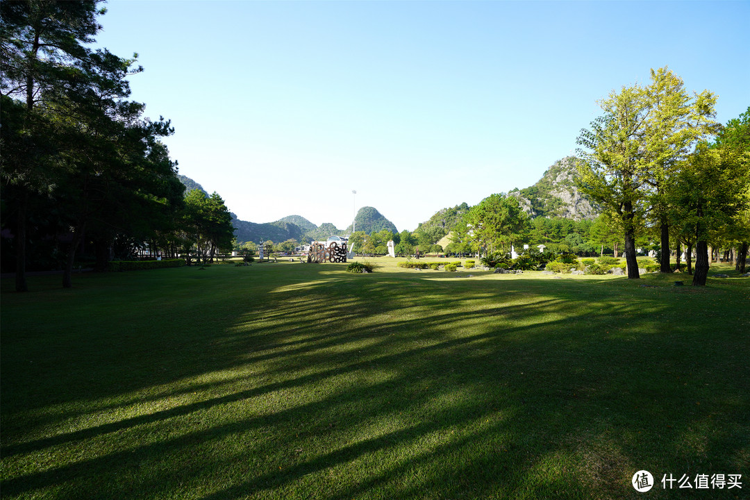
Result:
M508 195L517 197L531 217L595 219L601 208L576 187L575 162L575 157L562 158L550 166L536 184L514 189Z

